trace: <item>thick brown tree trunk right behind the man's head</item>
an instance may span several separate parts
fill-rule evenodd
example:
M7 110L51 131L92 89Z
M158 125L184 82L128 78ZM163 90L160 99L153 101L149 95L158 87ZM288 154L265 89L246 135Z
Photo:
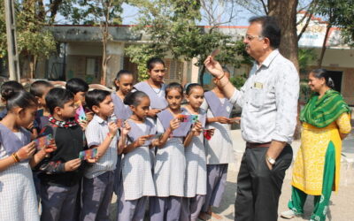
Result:
M287 57L299 70L297 57L296 7L298 0L269 0L268 15L278 19L281 27L281 55Z

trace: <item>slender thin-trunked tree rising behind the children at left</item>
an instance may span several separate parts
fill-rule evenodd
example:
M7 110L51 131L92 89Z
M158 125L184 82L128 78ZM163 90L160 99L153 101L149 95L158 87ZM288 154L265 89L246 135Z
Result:
M102 85L106 85L107 65L111 59L111 56L107 55L107 43L112 38L109 27L120 23L123 2L123 0L73 0L68 4L63 4L60 10L73 24L90 24L100 28L103 45Z

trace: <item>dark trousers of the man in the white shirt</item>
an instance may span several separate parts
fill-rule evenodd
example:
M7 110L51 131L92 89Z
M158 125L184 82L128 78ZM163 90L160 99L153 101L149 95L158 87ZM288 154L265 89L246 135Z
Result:
M269 147L269 145L268 145ZM275 161L273 169L266 164L267 147L247 145L237 177L235 221L276 221L278 203L285 171L293 150L287 144Z

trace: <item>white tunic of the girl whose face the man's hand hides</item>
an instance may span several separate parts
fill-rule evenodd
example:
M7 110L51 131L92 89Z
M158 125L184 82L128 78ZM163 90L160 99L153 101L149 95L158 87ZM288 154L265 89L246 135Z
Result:
M225 103L227 98L219 98L221 103ZM206 110L206 118L214 118L208 103L202 103L202 109ZM232 107L227 106L227 113L231 113ZM214 128L211 140L204 139L206 164L231 164L235 162L233 141L231 139L231 125L212 122L205 126L207 129Z

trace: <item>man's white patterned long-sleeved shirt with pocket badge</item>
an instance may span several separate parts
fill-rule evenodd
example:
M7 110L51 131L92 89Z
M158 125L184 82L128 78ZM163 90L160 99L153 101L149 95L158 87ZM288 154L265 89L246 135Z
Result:
M299 75L294 64L273 50L262 65L254 64L231 103L242 107L242 138L249 142L291 143L296 127Z

